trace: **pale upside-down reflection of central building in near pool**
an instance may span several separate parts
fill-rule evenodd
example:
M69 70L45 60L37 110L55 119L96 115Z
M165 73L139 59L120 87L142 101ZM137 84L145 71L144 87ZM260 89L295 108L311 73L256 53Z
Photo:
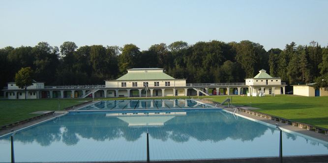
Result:
M186 115L186 112L134 112L134 113L107 113L106 116L117 116L120 120L128 123L129 127L137 126L164 126L168 120Z

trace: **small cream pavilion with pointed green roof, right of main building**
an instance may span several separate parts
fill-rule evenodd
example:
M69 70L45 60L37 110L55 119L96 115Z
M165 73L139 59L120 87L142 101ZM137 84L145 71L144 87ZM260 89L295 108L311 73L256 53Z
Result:
M266 70L260 70L254 78L245 79L249 87L247 96L265 96L275 94L285 94L285 83L280 78L272 78Z

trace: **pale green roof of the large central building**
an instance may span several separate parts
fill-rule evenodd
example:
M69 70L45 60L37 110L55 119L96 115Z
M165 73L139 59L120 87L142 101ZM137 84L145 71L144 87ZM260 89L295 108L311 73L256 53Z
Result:
M117 81L133 81L133 80L172 80L171 76L163 72L142 72L127 73L121 76Z

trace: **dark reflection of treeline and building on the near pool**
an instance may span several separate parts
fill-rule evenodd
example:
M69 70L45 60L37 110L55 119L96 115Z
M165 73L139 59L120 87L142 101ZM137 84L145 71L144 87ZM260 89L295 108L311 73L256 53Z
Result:
M213 142L228 138L253 141L267 130L272 134L275 131L250 120L235 119L224 111L69 114L17 133L15 141L35 141L42 146L49 146L54 141L75 145L80 141L79 137L97 141L116 138L136 141L146 132L162 141L186 142L190 138ZM295 140L296 136L287 134L287 138Z

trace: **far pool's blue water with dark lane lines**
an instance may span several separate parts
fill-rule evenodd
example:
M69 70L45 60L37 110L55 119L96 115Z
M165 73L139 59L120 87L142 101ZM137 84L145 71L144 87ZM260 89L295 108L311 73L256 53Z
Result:
M115 109L188 109L213 108L197 101L186 100L109 100L100 101L79 110L115 110Z

